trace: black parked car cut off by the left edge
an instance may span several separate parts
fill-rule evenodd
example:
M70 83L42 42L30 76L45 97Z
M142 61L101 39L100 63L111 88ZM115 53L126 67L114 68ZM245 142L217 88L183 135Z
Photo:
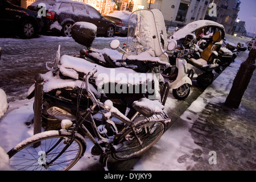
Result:
M0 0L0 24L2 33L15 33L22 38L33 38L43 27L38 13Z

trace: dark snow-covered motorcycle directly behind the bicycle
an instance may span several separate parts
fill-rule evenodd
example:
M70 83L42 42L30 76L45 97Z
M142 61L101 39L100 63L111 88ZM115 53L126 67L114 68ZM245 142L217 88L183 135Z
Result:
M153 14L150 10L135 11L133 14L139 18L138 22L140 22L137 24L138 27L135 28L136 24L133 26L134 34L137 34L133 38L139 39L139 26L145 22L143 21L145 18L152 18ZM146 26L146 24L144 23L143 25ZM96 35L95 29L91 28L91 26L92 24L80 22L80 30L75 35L77 36L75 39L80 40L86 47L90 47L94 35ZM156 35L154 33L157 31L156 27L152 26L150 30L150 32L147 32L147 36L152 38L153 41L151 42L153 45L150 45L153 47L160 45L158 43L160 39L154 38ZM90 34L85 34L84 32L90 32ZM84 38L84 36L90 35L92 35L90 39L86 40ZM147 37L142 37L140 40L143 40L143 38ZM134 41L134 39L131 40ZM117 46L116 42L116 40L112 42L112 48ZM127 41L129 48L131 48L133 43ZM141 45L141 43L138 45ZM127 118L132 117L135 113L135 109L132 107L133 102L141 98L158 100L164 105L170 85L160 75L160 69L170 67L170 63L160 60L160 57L155 57L154 49L147 48L140 52L139 49L141 50L142 47L133 48L135 49L130 49L129 52L125 51L121 60L113 60L112 62L125 65L129 68L125 66L106 68L102 65L86 61L84 59L88 56L88 52L86 53L86 51L81 51L80 55L76 56L63 55L60 57L59 47L55 60L52 63L47 62L46 64L49 72L42 75L44 78L42 105L42 119L44 123L46 125L47 123L56 123L59 125L63 119L75 121L77 105L81 110L89 108L92 103L86 97L81 97L81 100L77 103L77 96L79 95L82 78L94 68L97 69L97 73L94 74L93 78L90 78L90 89L101 102L105 102L106 100L112 101L113 105L121 113L125 114ZM168 46L169 51L173 49L174 47L172 45ZM106 55L105 57L110 56ZM32 97L34 97L34 86L31 86L29 89L27 98ZM93 117L98 121L98 124L101 123L102 116L95 114Z

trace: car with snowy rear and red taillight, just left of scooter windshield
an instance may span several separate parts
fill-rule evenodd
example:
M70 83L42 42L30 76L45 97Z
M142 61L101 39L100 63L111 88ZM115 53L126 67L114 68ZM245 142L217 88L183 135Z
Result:
M131 12L129 11L115 11L109 15L104 15L104 18L115 22L117 25L116 32L126 35L128 32L130 14Z

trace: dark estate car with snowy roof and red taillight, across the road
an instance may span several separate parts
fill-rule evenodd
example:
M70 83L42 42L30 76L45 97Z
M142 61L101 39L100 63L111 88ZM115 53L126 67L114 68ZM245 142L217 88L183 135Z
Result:
M115 33L115 23L107 20L94 7L77 1L38 0L28 6L28 9L39 11L46 5L44 30L61 32L63 36L71 36L71 27L75 22L89 22L97 26L97 34L111 37Z

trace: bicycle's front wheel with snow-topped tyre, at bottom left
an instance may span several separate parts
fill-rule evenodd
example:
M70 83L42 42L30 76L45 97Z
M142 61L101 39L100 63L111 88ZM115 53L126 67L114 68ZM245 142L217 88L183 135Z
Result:
M23 140L8 152L10 166L19 171L61 171L73 167L84 154L86 142L76 134L45 131Z

